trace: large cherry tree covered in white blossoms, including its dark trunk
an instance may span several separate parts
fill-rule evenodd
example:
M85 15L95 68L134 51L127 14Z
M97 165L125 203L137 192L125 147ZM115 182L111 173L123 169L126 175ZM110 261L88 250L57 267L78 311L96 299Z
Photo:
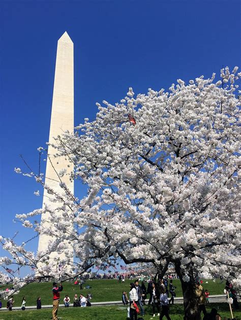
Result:
M185 319L199 320L197 277L222 275L236 285L241 278L235 85L241 74L236 73L237 67L232 73L226 67L218 82L215 74L188 84L179 79L168 92L149 89L135 96L130 88L119 103L97 103L96 119L86 118L74 134L57 137L55 145L57 156L74 163L70 179L86 184L87 196L79 200L71 195L59 176L63 194L53 201L63 214L54 231L29 221L49 208L17 217L37 233L51 232L55 241L49 251L26 253L3 239L12 259L2 259L2 265L28 261L38 268L44 260L40 275L54 275L57 268L64 278L119 258L126 264L150 264L160 277L172 265L182 283ZM40 175L31 174L48 189ZM66 219L74 224L73 232L63 232ZM61 236L55 238L56 233ZM68 259L59 260L57 267L49 260L51 251L63 251L66 240L79 259L68 275ZM25 260L18 262L16 252Z

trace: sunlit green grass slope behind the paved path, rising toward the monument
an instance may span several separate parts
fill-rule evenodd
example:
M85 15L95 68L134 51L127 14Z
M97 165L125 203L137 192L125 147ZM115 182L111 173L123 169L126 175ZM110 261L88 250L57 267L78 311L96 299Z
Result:
M83 295L87 295L88 292L92 293L92 302L100 301L118 301L122 300L122 292L127 291L129 293L129 285L133 280L126 280L125 282L118 283L117 280L88 280L86 281L85 286L91 286L91 289L84 289L80 291L79 285L74 285L72 282L64 282L64 290L61 293L60 303L64 303L63 299L65 295L68 295L73 302L73 297L75 293L78 295L80 292ZM205 283L208 281L208 283ZM182 297L182 288L180 286L180 281L178 279L173 280L174 286L176 286L176 296ZM213 282L213 280L204 280L203 288L208 289L210 295L221 295L223 294L224 283L221 284L219 280ZM42 282L42 283L31 283L28 286L20 290L18 295L14 295L14 306L20 306L22 297L26 297L26 306L36 305L36 300L40 296L42 305L52 304L52 282ZM149 295L147 296L147 298ZM7 304L6 301L3 301L3 307Z

